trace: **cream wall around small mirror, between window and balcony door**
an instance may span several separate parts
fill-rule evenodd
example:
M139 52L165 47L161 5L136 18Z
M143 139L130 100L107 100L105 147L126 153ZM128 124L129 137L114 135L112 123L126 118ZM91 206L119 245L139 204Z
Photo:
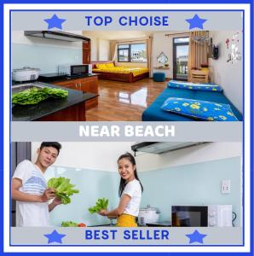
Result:
M183 38L188 37L188 32L186 34L181 35L172 35L166 37L165 34L173 34L173 32L154 32L153 33L153 67L158 67L159 63L157 62L157 57L160 55L161 52L164 52L165 55L168 57L170 64L169 69L163 69L161 72L164 72L166 78L173 78L173 38ZM176 32L177 33L177 32ZM158 69L155 71L158 72Z

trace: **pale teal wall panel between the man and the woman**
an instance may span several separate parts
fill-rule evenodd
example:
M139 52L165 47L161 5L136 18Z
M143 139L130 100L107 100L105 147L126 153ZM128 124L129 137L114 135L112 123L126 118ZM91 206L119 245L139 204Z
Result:
M109 224L106 217L90 214L89 207L94 207L98 198L109 200L108 208L118 206L117 172L104 172L97 170L52 167L47 171L46 178L68 177L76 185L79 193L72 195L72 202L60 205L50 212L50 221L54 226L61 226L62 221L83 222L87 225Z

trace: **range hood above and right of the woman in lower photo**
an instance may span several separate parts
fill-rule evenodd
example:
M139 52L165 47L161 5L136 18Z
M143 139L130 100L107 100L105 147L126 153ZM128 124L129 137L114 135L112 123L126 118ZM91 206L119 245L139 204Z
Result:
M175 151L182 148L189 148L205 143L193 143L193 142L182 142L182 143L136 143L131 146L131 150L136 152L146 152L150 154L162 154L165 152Z

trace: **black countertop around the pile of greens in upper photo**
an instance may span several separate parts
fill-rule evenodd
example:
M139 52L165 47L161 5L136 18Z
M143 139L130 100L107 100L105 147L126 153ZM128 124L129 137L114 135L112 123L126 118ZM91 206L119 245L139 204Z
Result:
M27 82L29 84L29 82ZM94 93L83 93L81 90L72 90L66 87L56 86L53 84L46 84L43 82L32 82L32 84L42 84L44 86L60 88L68 91L68 97L66 99L49 99L43 102L39 102L36 105L14 106L12 108L12 121L32 121L40 119L50 113L69 108L73 105L81 102L86 102L89 99L95 98ZM18 85L14 84L13 86Z

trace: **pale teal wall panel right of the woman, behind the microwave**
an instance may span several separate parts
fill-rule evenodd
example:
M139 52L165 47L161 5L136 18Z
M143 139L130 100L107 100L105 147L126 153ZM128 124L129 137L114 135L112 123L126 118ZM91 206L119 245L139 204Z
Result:
M241 159L235 157L186 166L141 172L144 186L141 206L159 207L161 221L171 220L172 205L233 205L240 226ZM231 180L231 193L221 193L223 179Z

